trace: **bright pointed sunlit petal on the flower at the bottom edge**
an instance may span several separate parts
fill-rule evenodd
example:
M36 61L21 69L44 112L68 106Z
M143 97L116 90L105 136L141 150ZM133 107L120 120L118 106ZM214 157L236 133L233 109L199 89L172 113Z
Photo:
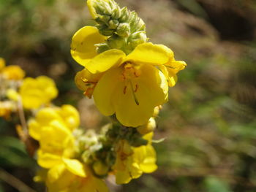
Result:
M84 165L77 159L62 158L69 172L80 177L86 177Z

